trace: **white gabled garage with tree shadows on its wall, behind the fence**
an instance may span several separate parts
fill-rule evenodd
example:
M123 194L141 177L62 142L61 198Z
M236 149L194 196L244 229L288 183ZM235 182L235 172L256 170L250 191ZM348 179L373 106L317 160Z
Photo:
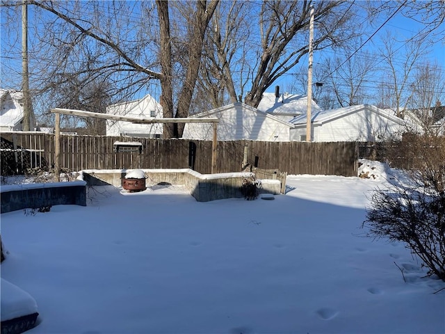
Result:
M218 141L289 141L289 131L293 125L270 113L236 102L220 108L198 113L195 117L216 117L218 122ZM210 123L187 123L183 138L211 140L213 125Z

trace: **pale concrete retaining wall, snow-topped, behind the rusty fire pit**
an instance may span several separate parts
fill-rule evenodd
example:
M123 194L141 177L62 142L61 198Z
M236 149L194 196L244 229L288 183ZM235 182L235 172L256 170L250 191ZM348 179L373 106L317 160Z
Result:
M186 189L198 202L220 200L224 198L243 198L241 184L252 173L205 174L188 168L183 169L143 169L147 186L166 182L186 186ZM122 186L122 178L127 170L83 170L83 180L89 186L107 185ZM281 182L267 180L263 183L262 192L280 194Z

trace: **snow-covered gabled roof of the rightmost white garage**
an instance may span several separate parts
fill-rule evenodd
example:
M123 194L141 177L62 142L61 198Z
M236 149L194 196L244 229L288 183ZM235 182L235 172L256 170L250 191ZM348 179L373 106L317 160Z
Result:
M389 120L396 122L399 125L405 125L405 121L402 118L394 116L394 113L392 111L385 111L371 104L359 104L357 106L346 106L339 109L331 109L311 113L311 122L314 125L322 125L325 122L330 122L332 120L336 120L337 118L348 116L351 113L357 113L358 111L362 111L364 109L372 111L373 113L376 113L382 117L388 118ZM307 114L305 113L304 115L297 116L290 122L293 125L306 125Z

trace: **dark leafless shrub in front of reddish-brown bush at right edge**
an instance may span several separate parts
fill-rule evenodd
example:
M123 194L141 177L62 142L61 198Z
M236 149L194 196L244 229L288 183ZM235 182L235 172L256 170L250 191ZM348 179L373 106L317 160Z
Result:
M367 236L403 241L445 281L445 198L419 189L394 187L373 193L362 228Z

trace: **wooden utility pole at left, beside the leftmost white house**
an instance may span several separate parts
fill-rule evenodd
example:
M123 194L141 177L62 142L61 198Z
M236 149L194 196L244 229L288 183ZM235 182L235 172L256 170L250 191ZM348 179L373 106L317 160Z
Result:
M33 104L29 93L29 71L28 71L28 4L22 2L22 93L23 93L23 131L31 129L31 115Z

